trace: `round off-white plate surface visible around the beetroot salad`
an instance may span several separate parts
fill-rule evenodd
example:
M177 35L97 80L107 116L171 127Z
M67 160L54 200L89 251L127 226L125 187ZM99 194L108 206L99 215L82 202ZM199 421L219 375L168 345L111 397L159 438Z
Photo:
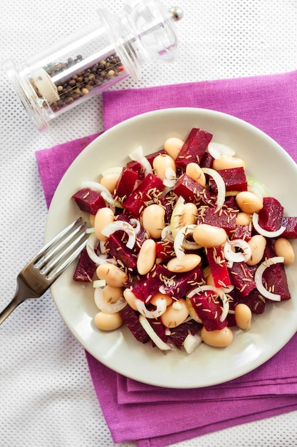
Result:
M297 166L275 141L244 121L205 109L165 109L118 124L95 139L73 162L53 197L48 212L46 241L81 215L72 194L84 180L98 180L101 171L126 164L127 154L140 144L145 153L162 149L170 136L184 139L192 127L214 135L213 141L230 145L246 161L246 172L261 180L285 207L297 216ZM296 249L296 241L293 241ZM227 348L199 346L192 355L183 350L164 354L151 343L135 341L123 327L104 333L93 323L96 307L91 286L75 283L74 265L51 287L58 311L83 347L99 361L124 376L171 388L199 388L223 383L252 371L277 353L297 330L296 262L287 268L291 300L266 306L253 316L250 331L235 330Z

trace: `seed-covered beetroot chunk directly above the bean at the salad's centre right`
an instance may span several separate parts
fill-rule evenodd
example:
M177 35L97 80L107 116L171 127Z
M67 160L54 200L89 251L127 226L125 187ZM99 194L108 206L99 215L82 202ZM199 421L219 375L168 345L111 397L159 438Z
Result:
M225 208L217 209L214 207L202 208L201 214L197 216L197 224L209 224L224 228L228 236L236 229L237 214L233 209Z

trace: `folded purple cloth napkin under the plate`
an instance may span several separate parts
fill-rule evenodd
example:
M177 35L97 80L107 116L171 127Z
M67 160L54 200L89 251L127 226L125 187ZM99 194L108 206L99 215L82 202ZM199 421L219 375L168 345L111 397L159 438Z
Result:
M297 71L103 94L105 129L145 111L202 107L265 131L297 161ZM36 153L47 205L71 161L98 134ZM191 390L120 376L86 352L95 391L115 443L163 447L204 433L297 409L297 335L264 365L222 385ZM218 404L219 403L219 404Z

